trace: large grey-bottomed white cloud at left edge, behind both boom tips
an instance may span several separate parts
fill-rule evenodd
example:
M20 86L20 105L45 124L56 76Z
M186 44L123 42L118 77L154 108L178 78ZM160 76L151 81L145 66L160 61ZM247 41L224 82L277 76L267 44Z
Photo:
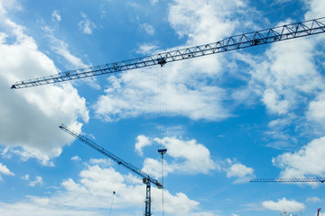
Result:
M79 121L89 118L86 101L69 83L10 89L18 80L56 74L57 68L23 26L7 18L2 24L12 38L10 44L4 37L0 43L0 143L23 159L36 157L51 166L51 158L72 141L58 126L65 122L79 132Z

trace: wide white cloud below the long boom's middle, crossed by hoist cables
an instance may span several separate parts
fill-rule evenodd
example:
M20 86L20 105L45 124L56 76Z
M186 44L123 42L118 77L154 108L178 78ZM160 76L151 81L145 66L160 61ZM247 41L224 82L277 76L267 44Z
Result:
M120 77L109 76L106 95L100 96L94 106L98 117L106 121L118 121L144 112L160 112L162 107L165 107L165 115L181 115L192 120L220 121L230 116L222 105L222 100L227 98L226 91L193 80L186 83L185 80L190 77L186 77L188 74L181 75L176 66L165 66L163 70L169 71L165 75L166 83L162 93L168 96L163 102L158 73L164 72L143 69L125 71Z

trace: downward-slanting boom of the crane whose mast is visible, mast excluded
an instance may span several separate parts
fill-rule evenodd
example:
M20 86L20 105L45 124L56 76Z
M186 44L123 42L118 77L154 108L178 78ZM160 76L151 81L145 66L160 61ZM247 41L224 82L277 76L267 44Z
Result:
M94 141L77 134L75 131L72 131L70 129L67 128L66 125L61 124L60 126L61 130L66 131L67 133L69 133L71 136L75 137L76 139L79 139L80 141L82 141L83 143L87 144L89 147L94 148L95 150L99 151L100 153L102 153L103 155L111 158L112 160L114 160L117 164L125 166L126 168L128 168L129 170L131 170L132 172L134 172L137 175L142 176L145 180L149 181L152 184L155 184L158 188L162 189L163 188L163 184L159 183L157 180L153 179L152 177L150 177L150 175L144 173L144 171L142 171L140 168L125 162L125 160L121 159L120 157L117 157L116 155L114 155L113 153L109 152L107 149L102 148L101 146L99 146L98 144L96 144Z

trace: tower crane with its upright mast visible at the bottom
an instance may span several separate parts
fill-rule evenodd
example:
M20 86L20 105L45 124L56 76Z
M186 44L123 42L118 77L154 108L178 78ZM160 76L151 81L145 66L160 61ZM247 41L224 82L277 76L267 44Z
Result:
M158 187L158 189L163 189L163 184L161 184L157 180L153 179L150 175L144 173L144 171L142 171L140 168L138 168L130 163L125 162L125 160L121 159L120 157L117 157L113 153L109 152L107 149L99 146L94 141L92 141L82 135L79 135L78 133L76 133L73 130L68 129L66 125L61 124L59 127L61 130L64 130L65 132L69 133L71 136L75 137L76 139L79 139L80 141L82 141L83 143L88 145L89 147L94 148L95 150L102 153L106 157L111 158L117 164L125 166L125 168L131 170L136 175L140 175L141 177L143 177L143 183L146 185L144 216L152 215L151 214L151 184L156 185Z

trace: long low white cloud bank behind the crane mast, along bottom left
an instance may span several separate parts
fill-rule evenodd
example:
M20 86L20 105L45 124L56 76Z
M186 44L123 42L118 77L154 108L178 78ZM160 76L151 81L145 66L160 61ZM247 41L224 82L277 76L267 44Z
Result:
M135 181L135 180L136 181ZM32 214L37 211L50 215L101 215L108 211L107 202L116 192L113 211L116 214L144 211L145 185L134 175L121 175L112 167L87 166L79 173L79 180L67 179L61 183L61 190L51 195L27 196L21 202L0 202L0 211ZM152 187L152 211L161 211L161 191ZM92 202L89 202L91 200ZM167 215L195 215L199 202L190 200L184 193L172 194L165 190L164 202Z

